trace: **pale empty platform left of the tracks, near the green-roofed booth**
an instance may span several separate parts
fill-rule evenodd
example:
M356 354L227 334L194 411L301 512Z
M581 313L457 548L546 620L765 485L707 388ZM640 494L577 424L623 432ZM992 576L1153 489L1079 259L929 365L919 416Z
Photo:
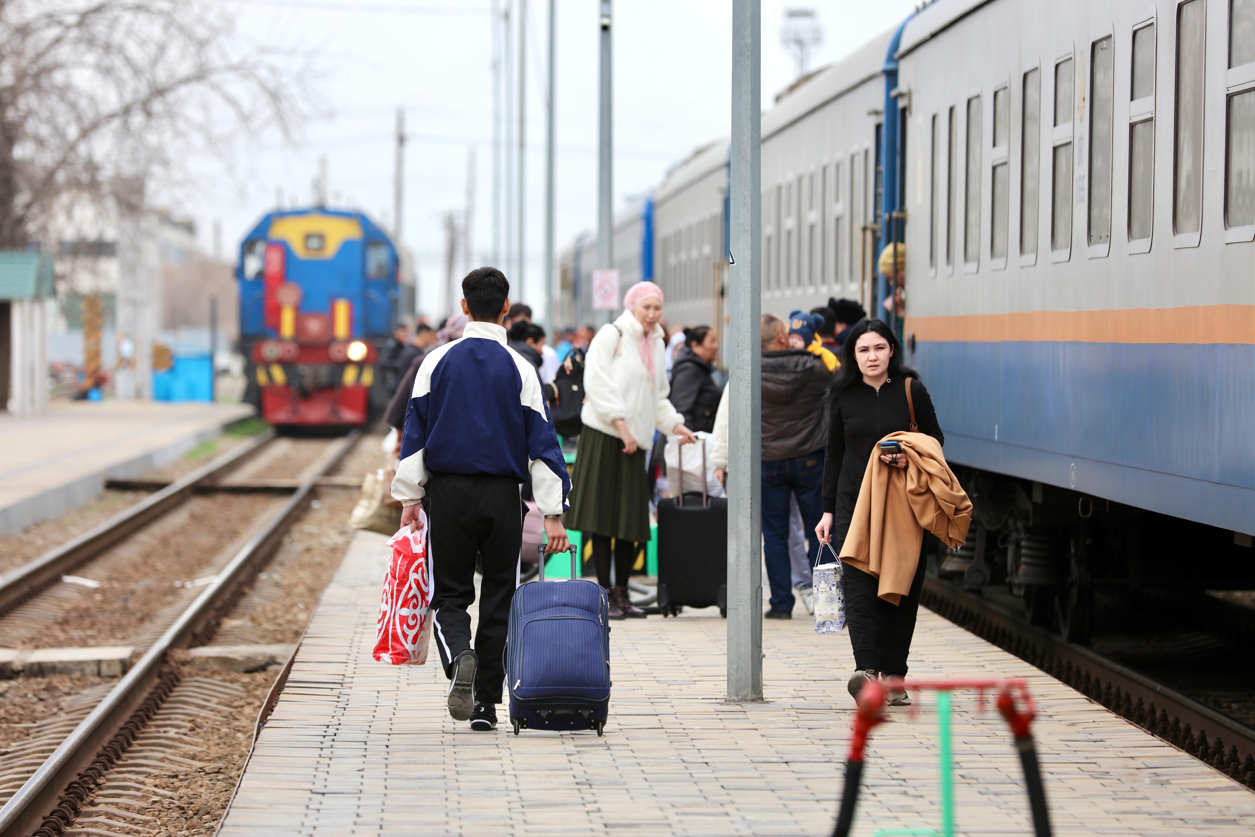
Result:
M252 414L243 404L54 403L38 419L0 417L0 535L64 514L105 479L159 468Z

